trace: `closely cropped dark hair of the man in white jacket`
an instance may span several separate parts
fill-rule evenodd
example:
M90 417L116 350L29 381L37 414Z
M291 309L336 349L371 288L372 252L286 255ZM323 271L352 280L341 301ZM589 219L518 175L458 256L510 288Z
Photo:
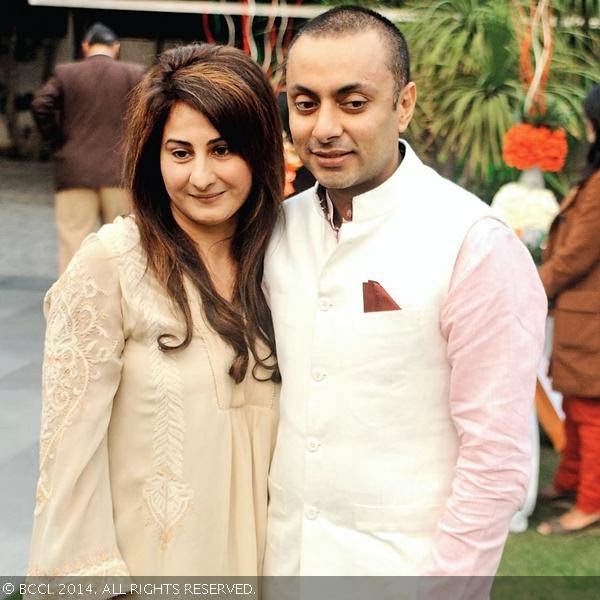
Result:
M336 6L308 21L292 40L289 50L303 35L341 36L376 29L389 50L388 66L394 76L394 104L410 81L408 45L402 32L389 19L362 6Z

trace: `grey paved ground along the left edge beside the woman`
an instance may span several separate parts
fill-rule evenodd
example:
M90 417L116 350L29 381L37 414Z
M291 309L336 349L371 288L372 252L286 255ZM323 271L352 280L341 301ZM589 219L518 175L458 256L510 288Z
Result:
M42 299L57 276L48 163L0 159L0 575L22 575L40 426Z

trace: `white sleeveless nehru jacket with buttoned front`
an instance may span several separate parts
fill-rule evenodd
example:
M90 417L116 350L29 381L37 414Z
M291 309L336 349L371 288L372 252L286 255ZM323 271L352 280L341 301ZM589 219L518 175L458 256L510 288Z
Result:
M440 307L488 207L421 163L353 201L336 241L315 189L284 203L265 263L283 388L265 575L415 575L458 438ZM362 283L401 307L363 312Z

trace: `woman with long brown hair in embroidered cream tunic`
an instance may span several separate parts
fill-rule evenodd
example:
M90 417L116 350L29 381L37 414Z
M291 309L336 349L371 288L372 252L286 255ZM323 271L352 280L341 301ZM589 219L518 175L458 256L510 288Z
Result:
M277 104L242 52L165 52L134 92L134 217L46 298L31 574L257 575L279 379L262 259Z

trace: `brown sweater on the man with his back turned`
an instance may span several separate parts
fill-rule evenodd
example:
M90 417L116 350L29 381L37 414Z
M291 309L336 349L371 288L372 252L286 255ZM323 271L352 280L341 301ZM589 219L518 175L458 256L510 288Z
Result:
M144 67L96 54L58 65L31 110L55 149L56 188L118 186L127 98Z

